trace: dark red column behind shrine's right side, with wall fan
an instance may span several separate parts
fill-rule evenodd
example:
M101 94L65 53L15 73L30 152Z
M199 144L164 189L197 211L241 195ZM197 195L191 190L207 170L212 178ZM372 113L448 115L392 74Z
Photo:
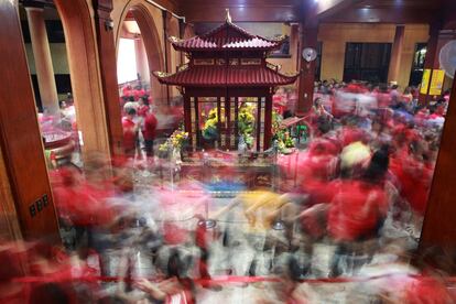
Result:
M307 63L303 56L302 52L306 47L312 47L317 50L318 46L318 26L304 28L303 24L300 25L300 68L302 74L300 76L298 85L298 99L296 107L296 115L303 116L311 107L314 101L314 82L315 82L315 66L316 62Z

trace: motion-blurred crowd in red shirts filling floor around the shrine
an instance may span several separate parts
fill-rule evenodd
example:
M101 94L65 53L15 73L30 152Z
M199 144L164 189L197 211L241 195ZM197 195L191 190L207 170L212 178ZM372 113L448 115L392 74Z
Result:
M139 133L152 156L158 122L148 98L131 98L130 162L94 154L84 173L51 173L64 246L3 242L0 302L456 301L445 274L454 256L415 254L446 96L421 106L409 89L327 82L306 118L307 148L278 160L276 189L222 199L189 176L142 175Z

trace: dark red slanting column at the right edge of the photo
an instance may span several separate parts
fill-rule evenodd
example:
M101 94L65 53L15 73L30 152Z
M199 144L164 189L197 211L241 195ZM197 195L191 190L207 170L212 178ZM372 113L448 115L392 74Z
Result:
M427 202L421 248L441 246L456 249L456 77L442 134L441 150Z

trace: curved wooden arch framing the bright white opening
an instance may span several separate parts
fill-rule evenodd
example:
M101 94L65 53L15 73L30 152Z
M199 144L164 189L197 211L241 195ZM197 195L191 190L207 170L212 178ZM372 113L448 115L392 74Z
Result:
M152 76L152 72L154 70L164 70L163 44L160 40L158 26L148 6L137 0L130 0L123 8L119 24L122 24L130 11L132 12L134 20L138 22L142 41L144 43L149 63L152 99L156 104L161 104L161 101L164 100L165 87ZM116 33L116 48L119 46L120 33L121 26L119 25Z

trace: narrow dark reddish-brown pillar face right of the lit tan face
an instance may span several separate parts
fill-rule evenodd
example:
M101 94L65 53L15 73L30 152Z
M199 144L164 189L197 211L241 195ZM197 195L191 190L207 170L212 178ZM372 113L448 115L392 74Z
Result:
M108 122L109 145L111 153L122 153L122 124L117 84L116 43L112 32L112 0L95 0L95 28L97 31L98 56L100 61L101 87Z

